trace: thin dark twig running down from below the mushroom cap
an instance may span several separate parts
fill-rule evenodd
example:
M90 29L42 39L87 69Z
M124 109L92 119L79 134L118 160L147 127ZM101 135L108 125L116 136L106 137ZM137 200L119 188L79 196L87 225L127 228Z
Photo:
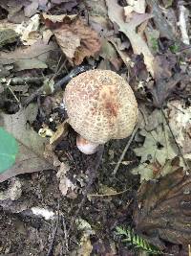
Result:
M96 179L96 171L100 165L100 162L101 162L101 158L102 158L102 154L103 154L103 150L104 150L104 146L101 145L98 147L98 150L96 152L96 159L95 159L95 166L92 166L90 168L88 168L88 173L89 173L89 181L88 181L88 184L86 186L86 189L85 189L85 192L83 194L83 198L81 200L81 202L79 203L78 205L78 208L74 214L74 217L71 221L71 224L70 224L70 227L69 227L69 231L71 231L71 229L73 228L73 225L74 225L74 221L76 220L77 216L79 215L79 212L81 210L81 208L83 207L86 199L87 199L87 195L88 193L90 192L91 188L92 188L92 185ZM68 233L69 233L68 231Z

